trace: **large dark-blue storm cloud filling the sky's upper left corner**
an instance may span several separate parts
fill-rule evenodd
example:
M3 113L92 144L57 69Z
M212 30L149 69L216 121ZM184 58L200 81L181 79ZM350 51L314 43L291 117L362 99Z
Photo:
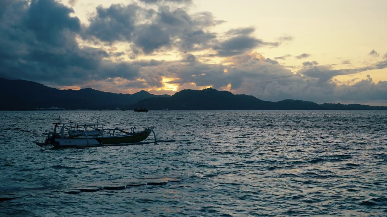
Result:
M0 20L0 77L56 85L76 85L120 75L134 78L137 66L114 63L116 53L75 40L80 21L54 0L14 1Z

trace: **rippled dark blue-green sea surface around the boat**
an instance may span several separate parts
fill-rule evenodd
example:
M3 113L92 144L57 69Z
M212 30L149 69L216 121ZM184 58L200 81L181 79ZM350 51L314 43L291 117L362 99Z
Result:
M176 141L37 146L58 115ZM0 111L0 129L0 197L20 197L0 216L387 216L387 111Z

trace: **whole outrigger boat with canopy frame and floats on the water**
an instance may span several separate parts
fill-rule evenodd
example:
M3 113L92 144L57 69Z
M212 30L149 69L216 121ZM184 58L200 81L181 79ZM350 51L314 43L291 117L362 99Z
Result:
M157 142L173 142L173 140L157 141L153 128L144 128L143 131L135 132L136 127L132 127L130 132L120 128L105 129L103 123L74 123L55 122L54 131L47 134L46 141L36 143L39 146L52 145L55 148L65 147L98 147L98 146L125 146L130 144L149 144ZM82 130L75 130L75 126L82 126ZM87 131L92 128L92 131ZM67 130L67 133L65 133ZM59 132L57 132L59 131ZM121 133L119 133L119 132ZM153 132L154 141L142 142ZM118 134L117 134L118 133Z

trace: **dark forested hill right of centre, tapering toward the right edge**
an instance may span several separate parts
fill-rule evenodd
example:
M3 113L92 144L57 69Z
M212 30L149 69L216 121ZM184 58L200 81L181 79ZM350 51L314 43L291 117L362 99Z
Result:
M387 110L385 106L324 103L319 105L303 100L263 101L249 95L234 95L213 88L204 90L182 90L169 98L146 98L132 107L147 107L151 110Z

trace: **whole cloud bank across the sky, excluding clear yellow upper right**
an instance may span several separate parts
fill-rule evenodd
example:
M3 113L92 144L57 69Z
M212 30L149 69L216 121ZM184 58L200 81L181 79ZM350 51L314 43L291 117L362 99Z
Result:
M371 76L353 80L357 81L354 85L335 80L339 75L387 68L386 57L359 68L341 65L344 69L304 61L303 68L291 71L277 60L292 55L272 58L256 49L277 47L293 37L264 41L255 37L254 27L214 32L223 20L216 20L211 12L190 14L180 3L192 2L144 0L98 6L89 23L83 24L72 8L54 0L1 1L0 77L116 93L162 91L168 78L168 85L178 91L212 86L270 101L293 98L387 105L385 81L374 83ZM165 54L179 58L151 59L162 59ZM295 58L310 56L304 53ZM214 63L214 59L222 62Z

